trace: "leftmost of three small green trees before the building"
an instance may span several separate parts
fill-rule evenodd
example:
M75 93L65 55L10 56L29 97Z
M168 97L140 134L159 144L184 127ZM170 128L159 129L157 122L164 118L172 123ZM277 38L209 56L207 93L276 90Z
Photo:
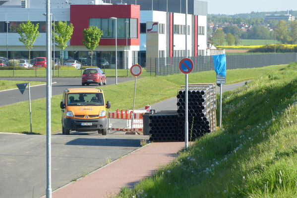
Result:
M17 33L20 35L20 38L18 38L18 40L22 42L29 50L30 62L30 51L33 48L33 44L35 43L37 37L40 36L38 31L39 23L34 25L31 23L31 21L28 20L26 23L20 24L19 27L20 28L16 28Z

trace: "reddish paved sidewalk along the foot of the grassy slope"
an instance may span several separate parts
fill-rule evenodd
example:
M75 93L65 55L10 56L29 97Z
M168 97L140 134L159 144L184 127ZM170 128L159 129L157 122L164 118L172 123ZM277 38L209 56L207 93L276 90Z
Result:
M108 198L133 187L176 157L184 142L151 143L53 193L53 198Z

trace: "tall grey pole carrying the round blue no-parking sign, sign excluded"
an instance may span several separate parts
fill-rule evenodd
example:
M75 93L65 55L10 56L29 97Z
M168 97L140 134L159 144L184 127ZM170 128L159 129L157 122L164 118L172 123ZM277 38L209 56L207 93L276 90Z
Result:
M181 5L180 5L181 10ZM181 13L181 11L180 11ZM188 14L188 1L185 0L185 56L188 57L187 50L187 14ZM188 134L189 126L188 126L188 74L185 74L185 124L184 124L184 148L188 148L189 146L189 134Z

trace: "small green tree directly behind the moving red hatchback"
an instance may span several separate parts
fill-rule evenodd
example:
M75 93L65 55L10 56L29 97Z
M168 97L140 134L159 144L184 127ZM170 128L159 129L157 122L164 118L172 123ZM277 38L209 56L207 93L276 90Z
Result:
M92 53L91 66L93 66L93 50L99 45L100 38L103 35L103 32L102 30L98 29L97 26L90 26L89 28L84 29L82 33L84 38L84 40L82 40L82 43Z

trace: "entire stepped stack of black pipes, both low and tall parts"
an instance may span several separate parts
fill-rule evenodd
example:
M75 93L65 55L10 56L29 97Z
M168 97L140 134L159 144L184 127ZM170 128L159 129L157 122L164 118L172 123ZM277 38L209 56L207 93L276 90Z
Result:
M185 88L177 95L178 110L149 116L152 142L184 142ZM188 141L216 130L216 84L188 85Z

